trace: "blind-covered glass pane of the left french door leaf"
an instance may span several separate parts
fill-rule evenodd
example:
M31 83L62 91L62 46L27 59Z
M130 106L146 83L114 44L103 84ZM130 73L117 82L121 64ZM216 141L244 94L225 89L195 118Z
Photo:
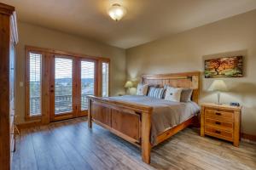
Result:
M55 114L73 111L73 59L55 58Z

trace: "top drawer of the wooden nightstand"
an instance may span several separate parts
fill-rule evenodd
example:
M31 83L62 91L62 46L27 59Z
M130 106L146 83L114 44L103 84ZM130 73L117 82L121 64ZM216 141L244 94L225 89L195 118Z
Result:
M206 109L205 111L206 116L215 117L219 120L225 119L230 122L233 122L233 111L219 111L213 109Z

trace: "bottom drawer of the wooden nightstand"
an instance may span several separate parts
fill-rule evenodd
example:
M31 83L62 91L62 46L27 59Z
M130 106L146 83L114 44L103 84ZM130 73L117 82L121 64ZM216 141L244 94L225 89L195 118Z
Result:
M233 133L218 128L205 127L205 133L220 139L233 140Z

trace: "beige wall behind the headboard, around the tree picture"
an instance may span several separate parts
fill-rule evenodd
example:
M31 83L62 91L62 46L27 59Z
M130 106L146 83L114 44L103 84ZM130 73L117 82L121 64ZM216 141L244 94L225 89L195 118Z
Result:
M243 106L241 130L256 134L256 10L220 20L207 26L184 31L126 50L127 77L183 71L203 71L203 59L213 56L242 54L246 75L226 78L229 93L222 101L236 101ZM200 102L214 102L216 94L208 93L212 79L202 77Z

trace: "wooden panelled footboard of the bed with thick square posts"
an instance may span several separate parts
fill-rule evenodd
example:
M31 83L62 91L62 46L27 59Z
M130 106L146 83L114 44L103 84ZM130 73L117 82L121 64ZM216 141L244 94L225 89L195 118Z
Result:
M153 108L107 98L88 96L88 127L92 122L142 149L143 161L150 163L150 129Z

